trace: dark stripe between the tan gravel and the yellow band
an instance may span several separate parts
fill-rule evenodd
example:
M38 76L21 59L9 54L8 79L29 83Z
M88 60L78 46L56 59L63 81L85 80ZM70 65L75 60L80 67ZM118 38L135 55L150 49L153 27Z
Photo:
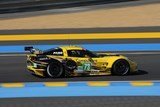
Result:
M160 32L160 26L0 30L1 35L2 34L5 35L5 34L132 33L132 32Z

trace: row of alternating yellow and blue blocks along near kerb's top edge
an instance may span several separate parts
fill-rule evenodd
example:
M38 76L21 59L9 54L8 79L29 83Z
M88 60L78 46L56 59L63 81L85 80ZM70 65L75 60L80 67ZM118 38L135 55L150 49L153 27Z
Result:
M130 81L130 82L109 82L109 81L89 81L89 82L33 82L33 83L1 83L0 88L26 88L26 87L109 87L109 86L129 86L129 87L152 87L160 86L160 81Z

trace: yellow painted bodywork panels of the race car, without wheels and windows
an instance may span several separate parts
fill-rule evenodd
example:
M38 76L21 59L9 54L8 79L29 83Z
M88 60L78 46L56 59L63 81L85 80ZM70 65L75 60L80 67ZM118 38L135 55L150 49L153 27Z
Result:
M61 46L59 47L63 50L63 56L55 56L55 55L47 55L48 58L51 59L57 59L57 60L63 60L63 59L72 59L76 63L81 63L83 61L85 62L92 62L93 66L96 66L100 69L100 72L90 72L89 75L110 75L111 74L111 68L114 64L115 61L118 59L125 59L128 61L130 65L130 72L135 72L137 71L137 64L131 60L129 60L127 57L122 56L122 55L114 55L110 53L104 53L107 56L104 57L98 57L98 58L89 58L89 57L69 57L67 54L67 50L84 50L82 47L78 46ZM29 60L32 63L35 63L29 59L30 56L36 56L36 54L29 54L27 55L27 60ZM41 62L43 66L47 66L46 63ZM45 76L44 75L44 69L37 69L33 65L27 66L27 69L35 73L36 75L39 76ZM73 76L78 76L77 73L74 73Z

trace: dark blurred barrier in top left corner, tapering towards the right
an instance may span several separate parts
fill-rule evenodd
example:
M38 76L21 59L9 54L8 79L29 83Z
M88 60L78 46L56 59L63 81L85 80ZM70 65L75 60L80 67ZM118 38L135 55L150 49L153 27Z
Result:
M58 9L93 4L117 3L136 0L6 0L0 1L0 14Z

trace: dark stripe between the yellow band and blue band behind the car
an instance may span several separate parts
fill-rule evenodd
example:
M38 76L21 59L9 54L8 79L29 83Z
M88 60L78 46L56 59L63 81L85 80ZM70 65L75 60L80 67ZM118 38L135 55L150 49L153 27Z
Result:
M136 44L160 43L160 39L117 39L117 40L49 40L49 41L6 41L0 45L74 45L74 44Z

